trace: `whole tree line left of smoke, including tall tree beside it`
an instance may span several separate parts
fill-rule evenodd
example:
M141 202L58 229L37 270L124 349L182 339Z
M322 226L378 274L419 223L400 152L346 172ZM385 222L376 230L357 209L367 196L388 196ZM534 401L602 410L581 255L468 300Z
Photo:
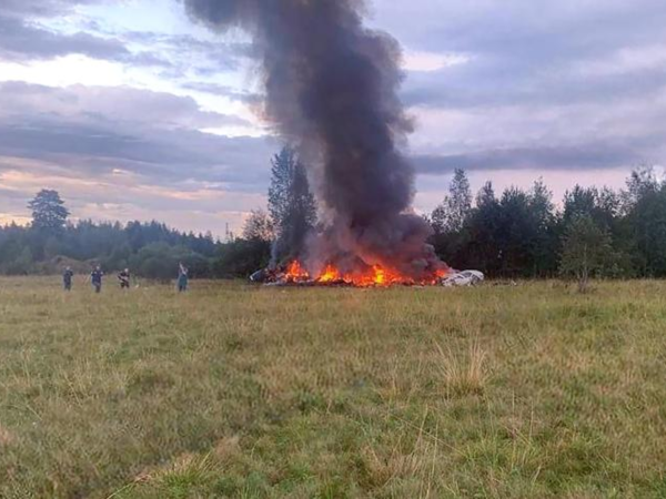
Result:
M297 256L316 223L316 204L295 151L283 147L271 160L270 213L252 212L240 237L193 234L160 222L128 224L70 221L57 191L30 201L32 222L0 226L0 274L60 273L67 266L89 273L130 268L135 275L170 279L182 262L193 277L245 277L273 262Z

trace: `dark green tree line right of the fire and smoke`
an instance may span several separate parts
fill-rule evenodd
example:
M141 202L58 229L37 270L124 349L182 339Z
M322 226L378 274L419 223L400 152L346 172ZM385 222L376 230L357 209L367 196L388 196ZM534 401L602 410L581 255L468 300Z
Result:
M456 170L428 221L451 266L492 277L572 275L585 287L592 276L666 276L666 183L650 167L634 170L619 191L576 185L559 208L541 180L501 195L488 182L473 200Z

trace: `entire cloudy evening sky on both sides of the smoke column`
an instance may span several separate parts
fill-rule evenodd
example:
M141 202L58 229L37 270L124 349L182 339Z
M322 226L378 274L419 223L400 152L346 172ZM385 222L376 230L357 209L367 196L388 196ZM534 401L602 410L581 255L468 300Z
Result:
M374 0L367 22L404 47L420 211L456 166L561 197L666 164L663 0ZM178 0L0 0L0 223L50 187L78 218L240 227L280 147L258 72Z

